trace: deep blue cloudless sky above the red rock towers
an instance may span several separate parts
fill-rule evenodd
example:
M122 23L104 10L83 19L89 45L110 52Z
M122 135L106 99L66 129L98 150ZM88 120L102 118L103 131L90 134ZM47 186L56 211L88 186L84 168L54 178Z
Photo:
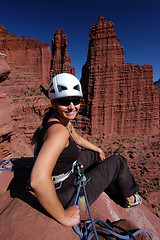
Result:
M55 31L63 29L79 79L87 60L90 27L102 15L115 24L125 62L151 64L153 80L160 78L159 0L8 0L1 2L0 10L0 24L19 37L36 38L51 45Z

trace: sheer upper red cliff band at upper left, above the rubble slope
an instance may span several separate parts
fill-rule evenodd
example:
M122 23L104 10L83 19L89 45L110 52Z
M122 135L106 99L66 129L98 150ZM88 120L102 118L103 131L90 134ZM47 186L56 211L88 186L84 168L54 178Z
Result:
M0 52L7 55L8 63L22 67L25 72L36 73L43 82L49 79L51 53L48 43L17 37L0 25Z

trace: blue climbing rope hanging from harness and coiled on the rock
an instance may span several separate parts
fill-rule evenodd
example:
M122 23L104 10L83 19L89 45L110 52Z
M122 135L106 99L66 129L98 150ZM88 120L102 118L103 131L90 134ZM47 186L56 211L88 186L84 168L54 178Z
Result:
M77 185L77 195L76 195L74 205L79 206L80 190L83 189L88 213L90 216L90 220L86 220L85 222L82 222L81 220L79 220L79 224L73 227L73 230L79 235L80 239L91 240L93 237L95 237L96 240L98 240L99 239L98 235L99 235L99 236L102 236L104 239L109 239L109 240L112 240L115 237L118 239L137 240L135 236L138 235L139 233L145 232L146 234L148 234L149 238L152 240L151 234L145 229L140 229L135 231L134 233L131 233L130 231L124 228L121 228L119 226L112 224L109 220L107 220L106 222L103 222L101 220L93 220L90 207L89 207L86 190L85 190L87 178L84 175L83 166L80 166L77 163L76 167L78 170L78 185ZM121 233L117 232L115 229L120 230Z

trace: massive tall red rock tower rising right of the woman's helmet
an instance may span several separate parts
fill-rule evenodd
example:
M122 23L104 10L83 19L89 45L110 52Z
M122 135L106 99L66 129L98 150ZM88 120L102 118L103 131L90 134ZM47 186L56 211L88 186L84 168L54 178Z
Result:
M91 135L159 132L159 99L152 66L125 63L114 24L103 17L90 29L81 82L86 102L82 114Z

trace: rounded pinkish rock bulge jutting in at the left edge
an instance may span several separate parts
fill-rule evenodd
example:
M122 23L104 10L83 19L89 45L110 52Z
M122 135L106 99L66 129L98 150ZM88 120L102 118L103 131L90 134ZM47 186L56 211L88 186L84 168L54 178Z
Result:
M6 55L0 53L0 83L3 82L10 73L10 68L8 63L6 62Z

